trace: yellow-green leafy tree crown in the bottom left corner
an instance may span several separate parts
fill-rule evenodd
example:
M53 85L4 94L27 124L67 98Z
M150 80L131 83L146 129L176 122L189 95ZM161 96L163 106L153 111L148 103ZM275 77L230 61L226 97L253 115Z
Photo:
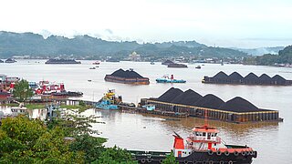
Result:
M83 153L72 152L61 128L48 129L25 116L5 118L0 127L0 163L82 163Z

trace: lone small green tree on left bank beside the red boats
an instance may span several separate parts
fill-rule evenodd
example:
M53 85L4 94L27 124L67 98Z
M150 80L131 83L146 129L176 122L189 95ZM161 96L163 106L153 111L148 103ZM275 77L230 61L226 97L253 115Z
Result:
M26 101L28 97L32 97L33 95L33 89L29 87L28 82L25 79L16 82L13 90L13 96L16 97L16 99Z

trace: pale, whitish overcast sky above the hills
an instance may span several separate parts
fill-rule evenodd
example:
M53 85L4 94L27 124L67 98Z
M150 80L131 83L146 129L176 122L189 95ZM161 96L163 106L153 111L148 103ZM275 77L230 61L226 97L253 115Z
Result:
M0 31L109 41L292 45L291 0L5 0Z

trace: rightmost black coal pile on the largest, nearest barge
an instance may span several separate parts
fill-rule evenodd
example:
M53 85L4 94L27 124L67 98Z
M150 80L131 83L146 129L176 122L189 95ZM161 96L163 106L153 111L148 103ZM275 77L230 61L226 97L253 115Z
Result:
M233 112L255 112L259 111L259 108L256 108L255 105L248 102L242 97L235 97L225 102L219 109L225 111L233 111Z

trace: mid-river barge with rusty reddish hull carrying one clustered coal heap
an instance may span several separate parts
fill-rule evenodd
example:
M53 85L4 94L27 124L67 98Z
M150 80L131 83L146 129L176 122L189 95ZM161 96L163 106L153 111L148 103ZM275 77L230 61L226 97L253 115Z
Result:
M123 70L119 69L110 75L104 77L106 81L124 84L134 84L134 85L149 85L149 78L142 77L137 72L133 70Z

